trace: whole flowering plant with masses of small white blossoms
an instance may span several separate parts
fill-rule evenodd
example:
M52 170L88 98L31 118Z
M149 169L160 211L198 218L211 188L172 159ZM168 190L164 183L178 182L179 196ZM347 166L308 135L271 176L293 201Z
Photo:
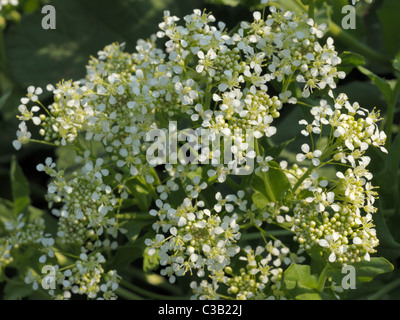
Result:
M341 299L344 266L357 285L392 270L369 169L370 152L388 153L380 111L337 92L344 56L314 1L263 2L232 30L208 11L165 11L134 52L110 44L81 80L47 85L50 104L27 88L12 144L57 149L36 166L56 219L30 206L14 162L2 269L34 251L24 282L55 299L132 298L123 275L138 260L196 299ZM288 157L294 138L273 139L295 108Z

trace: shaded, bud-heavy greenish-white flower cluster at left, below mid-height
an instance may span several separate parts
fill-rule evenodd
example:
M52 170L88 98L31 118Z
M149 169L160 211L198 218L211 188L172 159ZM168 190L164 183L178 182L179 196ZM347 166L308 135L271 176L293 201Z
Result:
M46 159L45 165L37 166L38 171L53 178L48 185L49 205L63 204L52 210L59 217L57 235L63 243L89 246L87 240L96 239L104 230L114 238L118 234L118 222L109 214L116 208L117 199L112 188L103 182L109 171L102 167L102 158L93 162L87 159L89 154L87 151L87 157L76 159L78 163L83 162L81 171L74 171L68 180L64 171L55 169L51 158Z

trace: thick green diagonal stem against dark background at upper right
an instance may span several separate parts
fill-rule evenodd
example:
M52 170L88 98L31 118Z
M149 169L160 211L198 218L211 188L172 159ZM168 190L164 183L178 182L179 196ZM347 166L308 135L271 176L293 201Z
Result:
M360 42L357 38L344 31L333 21L329 25L329 33L338 41L348 45L354 51L359 52L370 60L379 62L380 64L392 68L392 63L381 53L375 51L364 43Z

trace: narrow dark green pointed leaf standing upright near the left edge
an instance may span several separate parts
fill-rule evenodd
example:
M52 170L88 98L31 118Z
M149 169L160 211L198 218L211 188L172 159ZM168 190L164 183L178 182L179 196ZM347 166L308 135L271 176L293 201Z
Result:
M14 214L26 212L31 200L29 197L29 183L26 179L21 167L19 166L15 156L11 160L11 189L14 200Z

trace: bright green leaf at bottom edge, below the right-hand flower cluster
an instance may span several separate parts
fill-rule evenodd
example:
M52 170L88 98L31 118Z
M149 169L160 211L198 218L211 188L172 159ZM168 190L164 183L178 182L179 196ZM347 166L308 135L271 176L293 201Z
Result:
M321 299L317 277L308 265L291 264L283 273L283 287L295 299Z

